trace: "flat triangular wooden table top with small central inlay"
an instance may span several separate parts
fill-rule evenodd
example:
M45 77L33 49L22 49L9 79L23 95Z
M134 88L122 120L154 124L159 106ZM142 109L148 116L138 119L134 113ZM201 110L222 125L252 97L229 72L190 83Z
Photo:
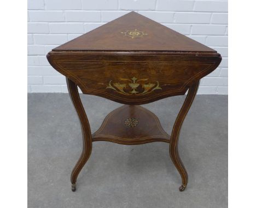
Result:
M53 51L210 52L212 48L132 11Z

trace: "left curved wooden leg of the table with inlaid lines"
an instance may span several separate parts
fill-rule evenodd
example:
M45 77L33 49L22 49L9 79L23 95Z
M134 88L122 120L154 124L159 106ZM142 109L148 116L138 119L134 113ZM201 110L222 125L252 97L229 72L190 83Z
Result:
M75 186L76 186L75 183L77 182L77 176L91 155L92 139L91 139L91 130L90 130L89 121L84 111L83 104L80 100L77 85L68 78L66 78L66 81L67 81L68 92L73 102L73 105L75 107L75 110L77 111L77 114L80 120L81 129L82 129L82 134L83 134L83 151L77 164L75 164L75 167L71 173L71 184L72 184L71 187L72 187L72 191L75 191Z

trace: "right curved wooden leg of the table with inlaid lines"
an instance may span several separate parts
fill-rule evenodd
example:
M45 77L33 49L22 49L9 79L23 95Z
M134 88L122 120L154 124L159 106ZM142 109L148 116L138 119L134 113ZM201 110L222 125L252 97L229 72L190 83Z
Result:
M179 114L177 115L176 121L173 125L172 134L171 134L171 143L170 143L169 152L170 152L171 159L174 163L174 166L176 166L182 178L182 185L181 187L179 187L179 191L184 191L184 189L187 187L187 184L188 184L187 170L185 169L181 161L181 158L179 157L179 152L178 152L179 132L181 131L182 123L189 111L189 108L193 103L198 87L199 87L199 81L189 88L188 95L181 107L181 110L179 111Z

